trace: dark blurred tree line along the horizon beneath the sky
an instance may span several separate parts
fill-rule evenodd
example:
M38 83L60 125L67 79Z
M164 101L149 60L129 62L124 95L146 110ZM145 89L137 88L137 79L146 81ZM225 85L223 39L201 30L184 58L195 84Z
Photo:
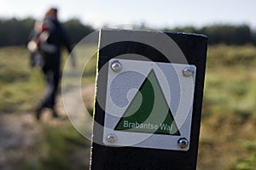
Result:
M32 31L35 20L26 18L0 19L0 47L26 45L27 38ZM67 20L62 23L66 28L72 43L79 42L82 38L95 31L92 26L84 25L78 19ZM142 28L145 28L142 25ZM194 26L163 28L162 31L188 32L205 34L209 44L254 44L256 45L256 33L247 25L212 25L195 28Z

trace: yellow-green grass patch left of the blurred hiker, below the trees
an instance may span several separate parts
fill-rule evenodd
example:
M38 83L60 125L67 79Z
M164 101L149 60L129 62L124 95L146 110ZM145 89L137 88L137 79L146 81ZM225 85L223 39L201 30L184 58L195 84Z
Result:
M38 94L42 94L40 72L28 66L26 48L0 50L0 111L20 112L32 109Z

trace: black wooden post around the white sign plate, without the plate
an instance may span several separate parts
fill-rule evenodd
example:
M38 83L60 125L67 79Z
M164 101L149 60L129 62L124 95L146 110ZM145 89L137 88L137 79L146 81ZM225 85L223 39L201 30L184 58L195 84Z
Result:
M203 35L160 31L102 30L100 32L98 53L98 76L94 111L95 122L93 127L90 169L196 169L206 55L207 37ZM181 144L175 143L177 147L180 147L180 150L172 149L172 147L167 149L161 148L157 144L154 147L150 147L150 144L144 144L146 146L142 147L140 144L136 147L129 144L128 146L127 144L126 146L125 144L117 144L115 146L115 140L119 140L121 137L114 135L108 136L107 138L109 139L106 139L106 136L104 137L104 126L106 127L105 116L107 114L106 107L108 105L106 104L106 100L108 96L107 91L109 90L107 86L108 78L111 77L108 75L108 71L113 65L113 59L120 59L121 61L123 61L122 59L128 59L131 63L133 61L141 62L149 60L150 62L164 63L163 65L170 63L195 65L195 88L193 88L195 91L193 104L191 105L192 116L191 127L189 127L189 141L186 141L186 139L183 140L183 134L181 132L181 134L172 133L172 135L169 135L173 136L173 138L180 137L180 140L177 142ZM119 71L119 64L113 66L115 66L114 69ZM189 75L190 73L183 71L183 76L189 77L191 76ZM160 138L161 136L169 138L164 132L159 133L162 133L160 134ZM135 135L140 134L142 133ZM106 140L108 140L107 143L109 142L109 144L104 142ZM186 145L186 142L189 142L189 146ZM176 147L175 144L174 147ZM187 150L184 149L186 147Z

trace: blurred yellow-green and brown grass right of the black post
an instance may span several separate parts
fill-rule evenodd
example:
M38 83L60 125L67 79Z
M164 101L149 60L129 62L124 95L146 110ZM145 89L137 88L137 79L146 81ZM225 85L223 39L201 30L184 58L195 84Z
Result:
M209 47L200 169L256 169L256 48Z

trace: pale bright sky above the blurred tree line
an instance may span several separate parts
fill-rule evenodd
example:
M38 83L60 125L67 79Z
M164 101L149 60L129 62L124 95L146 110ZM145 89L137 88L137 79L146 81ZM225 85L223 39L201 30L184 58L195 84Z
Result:
M247 24L256 28L255 0L0 0L0 17L42 18L49 7L60 10L62 21L79 18L84 24L140 24L156 28Z

